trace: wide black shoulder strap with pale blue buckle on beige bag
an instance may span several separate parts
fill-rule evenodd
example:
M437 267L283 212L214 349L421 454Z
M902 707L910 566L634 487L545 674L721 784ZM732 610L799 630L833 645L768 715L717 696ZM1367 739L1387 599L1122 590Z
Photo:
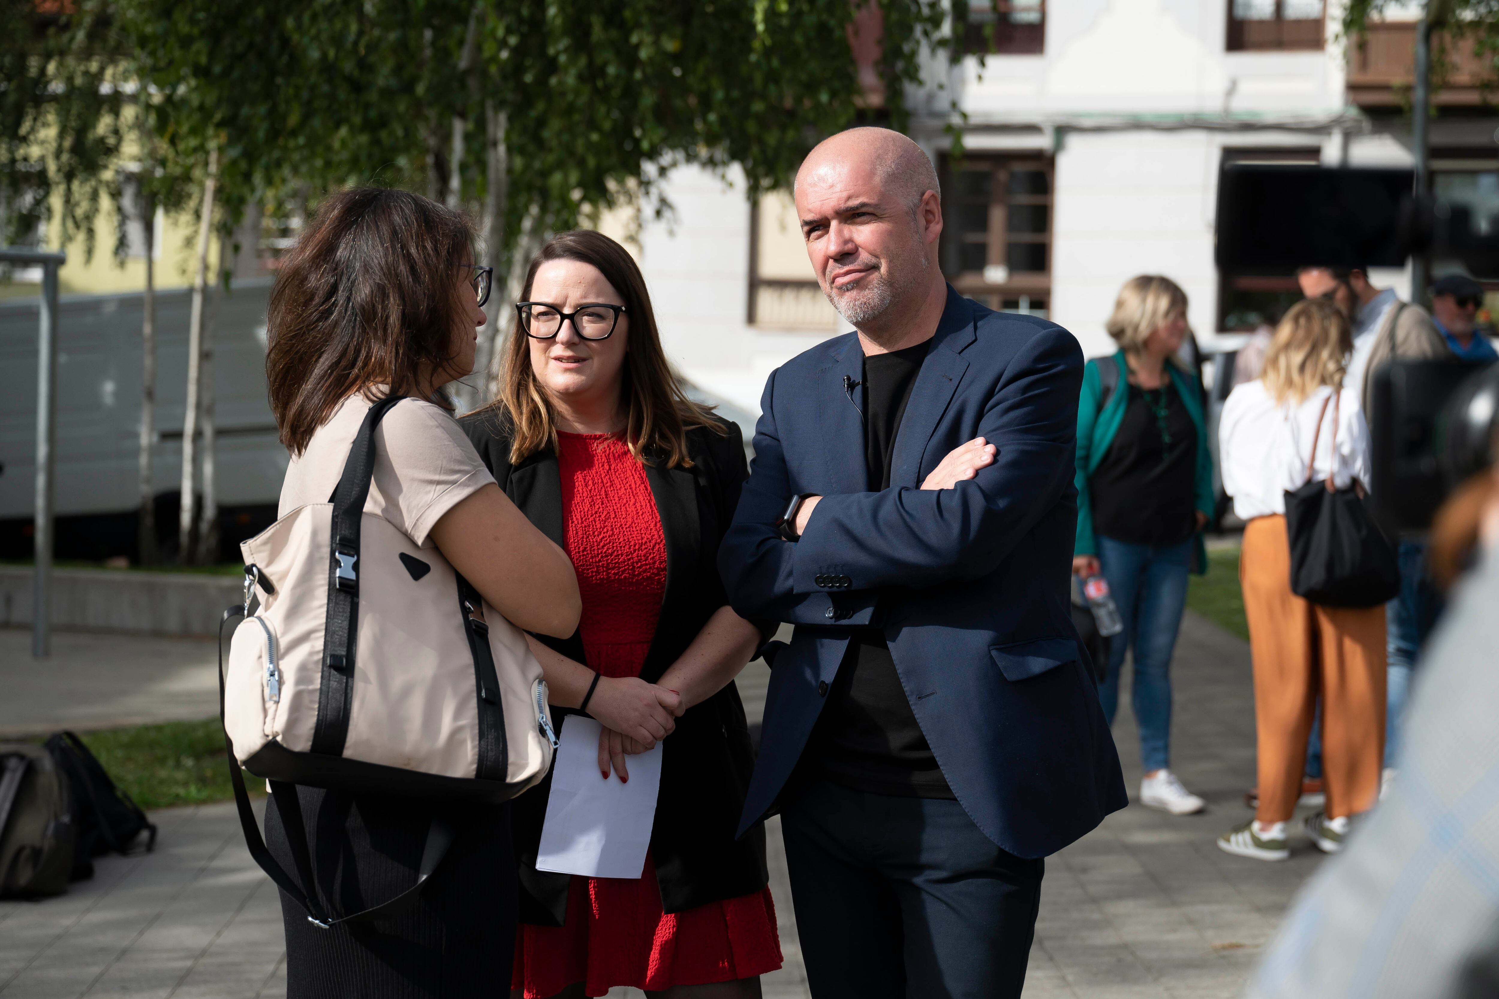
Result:
M360 619L360 524L375 473L375 427L405 395L387 395L364 415L343 475L333 490L333 545L328 551L328 617L322 631L322 680L312 752L342 756L354 702L354 659Z

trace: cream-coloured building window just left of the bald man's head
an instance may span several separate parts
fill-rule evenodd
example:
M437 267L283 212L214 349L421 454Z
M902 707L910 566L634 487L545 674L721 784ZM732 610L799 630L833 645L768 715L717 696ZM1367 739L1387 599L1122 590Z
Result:
M796 204L785 192L761 195L750 207L748 312L752 327L814 333L839 328L838 313L806 259Z

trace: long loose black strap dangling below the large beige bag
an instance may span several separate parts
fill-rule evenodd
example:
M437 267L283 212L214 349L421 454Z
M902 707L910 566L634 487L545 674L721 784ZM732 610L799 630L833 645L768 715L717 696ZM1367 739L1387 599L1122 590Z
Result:
M238 604L223 611L223 617L219 620L220 725L223 723L223 626L235 617L244 617L244 608ZM453 825L442 816L433 818L427 825L427 839L421 846L421 866L417 869L417 882L394 899L388 899L376 906L370 906L369 909L361 909L352 915L333 918L328 915L328 911L322 906L322 902L318 897L318 882L312 873L312 855L307 849L307 827L301 818L301 800L297 797L297 786L274 782L271 785L271 792L276 795L276 807L282 810L282 816L285 819L286 845L291 849L292 864L301 876L301 884L306 884L310 888L309 891L303 891L301 884L286 873L286 869L282 867L274 857L271 857L270 848L265 846L265 837L261 836L261 827L255 821L255 810L250 807L249 791L244 789L244 773L240 770L240 761L234 756L234 741L229 738L228 728L223 729L223 749L229 759L229 783L234 785L234 804L240 813L240 828L244 830L244 845L249 848L250 857L253 857L255 863L259 864L259 869L276 882L277 888L285 891L292 902L301 906L303 912L307 914L307 921L313 926L327 930L339 923L370 920L376 915L388 915L406 905L411 905L415 902L417 893L420 893L423 885L427 884L427 878L430 878L438 869L438 864L442 863L448 848L453 845Z

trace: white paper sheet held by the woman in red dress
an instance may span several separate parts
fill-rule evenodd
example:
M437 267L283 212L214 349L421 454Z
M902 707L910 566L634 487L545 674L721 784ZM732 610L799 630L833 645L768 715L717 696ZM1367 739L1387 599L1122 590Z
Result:
M639 878L645 870L661 791L661 743L625 759L630 783L613 770L604 780L598 776L601 729L582 714L564 720L537 870L589 878Z

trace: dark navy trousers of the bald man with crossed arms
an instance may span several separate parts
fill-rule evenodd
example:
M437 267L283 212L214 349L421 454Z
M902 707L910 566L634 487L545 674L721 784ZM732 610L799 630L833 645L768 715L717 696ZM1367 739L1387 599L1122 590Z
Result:
M812 999L1007 999L1025 984L1042 860L950 800L793 779L781 812Z

